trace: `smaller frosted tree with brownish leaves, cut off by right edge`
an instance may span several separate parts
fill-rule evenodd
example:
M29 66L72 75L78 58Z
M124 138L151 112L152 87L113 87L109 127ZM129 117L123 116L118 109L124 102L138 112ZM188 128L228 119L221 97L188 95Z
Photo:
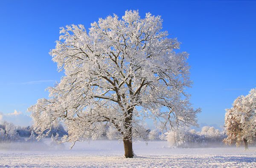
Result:
M233 103L233 107L226 109L225 131L227 138L225 143L236 142L240 145L244 142L245 149L248 143L256 139L256 89L253 88L246 96L239 96Z

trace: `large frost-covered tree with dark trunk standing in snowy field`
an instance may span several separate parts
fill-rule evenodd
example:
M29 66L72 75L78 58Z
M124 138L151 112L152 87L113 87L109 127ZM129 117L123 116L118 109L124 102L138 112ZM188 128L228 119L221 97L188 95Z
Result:
M146 137L144 119L161 128L195 125L196 114L185 92L191 86L186 52L162 29L160 16L126 11L98 23L61 28L50 54L65 76L49 89L49 99L31 106L35 129L63 122L67 141L100 136L106 126L122 134L125 157L133 157L132 138Z

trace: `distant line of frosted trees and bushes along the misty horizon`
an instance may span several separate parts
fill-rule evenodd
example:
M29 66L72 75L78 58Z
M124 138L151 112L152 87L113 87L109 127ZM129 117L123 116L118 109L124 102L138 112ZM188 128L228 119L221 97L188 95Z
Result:
M45 133L47 133L46 130ZM154 129L146 130L147 141L163 140L167 141L169 147L174 148L199 148L199 147L221 147L225 144L223 140L227 139L226 131L219 131L214 127L204 126L201 131L195 129L180 128L176 131L167 131L165 133ZM0 124L0 143L1 142L37 142L37 136L33 131L33 125L27 127L16 126L11 122L3 122ZM62 137L67 136L67 131L61 124L53 127L47 137L51 137L53 146L60 144ZM101 131L98 136L101 139L122 140L122 135L113 127L108 127ZM91 139L96 139L91 136ZM225 141L224 141L225 142ZM232 143L231 145L235 145ZM60 148L61 145L58 145Z

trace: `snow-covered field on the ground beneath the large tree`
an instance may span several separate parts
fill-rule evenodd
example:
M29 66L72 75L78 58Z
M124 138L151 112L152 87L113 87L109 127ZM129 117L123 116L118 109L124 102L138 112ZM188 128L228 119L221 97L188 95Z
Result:
M0 144L0 168L9 167L256 167L256 147L244 148L169 148L167 142L134 142L136 158L123 158L122 142L96 140L50 146L35 144Z

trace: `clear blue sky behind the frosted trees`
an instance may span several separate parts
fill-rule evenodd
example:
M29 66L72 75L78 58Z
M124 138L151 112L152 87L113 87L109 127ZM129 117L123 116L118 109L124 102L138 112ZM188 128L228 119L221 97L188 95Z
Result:
M256 1L1 1L0 120L31 124L26 109L60 80L48 54L59 27L89 28L99 17L130 9L162 16L163 30L190 54L188 92L202 108L198 123L221 127L225 108L256 87Z

